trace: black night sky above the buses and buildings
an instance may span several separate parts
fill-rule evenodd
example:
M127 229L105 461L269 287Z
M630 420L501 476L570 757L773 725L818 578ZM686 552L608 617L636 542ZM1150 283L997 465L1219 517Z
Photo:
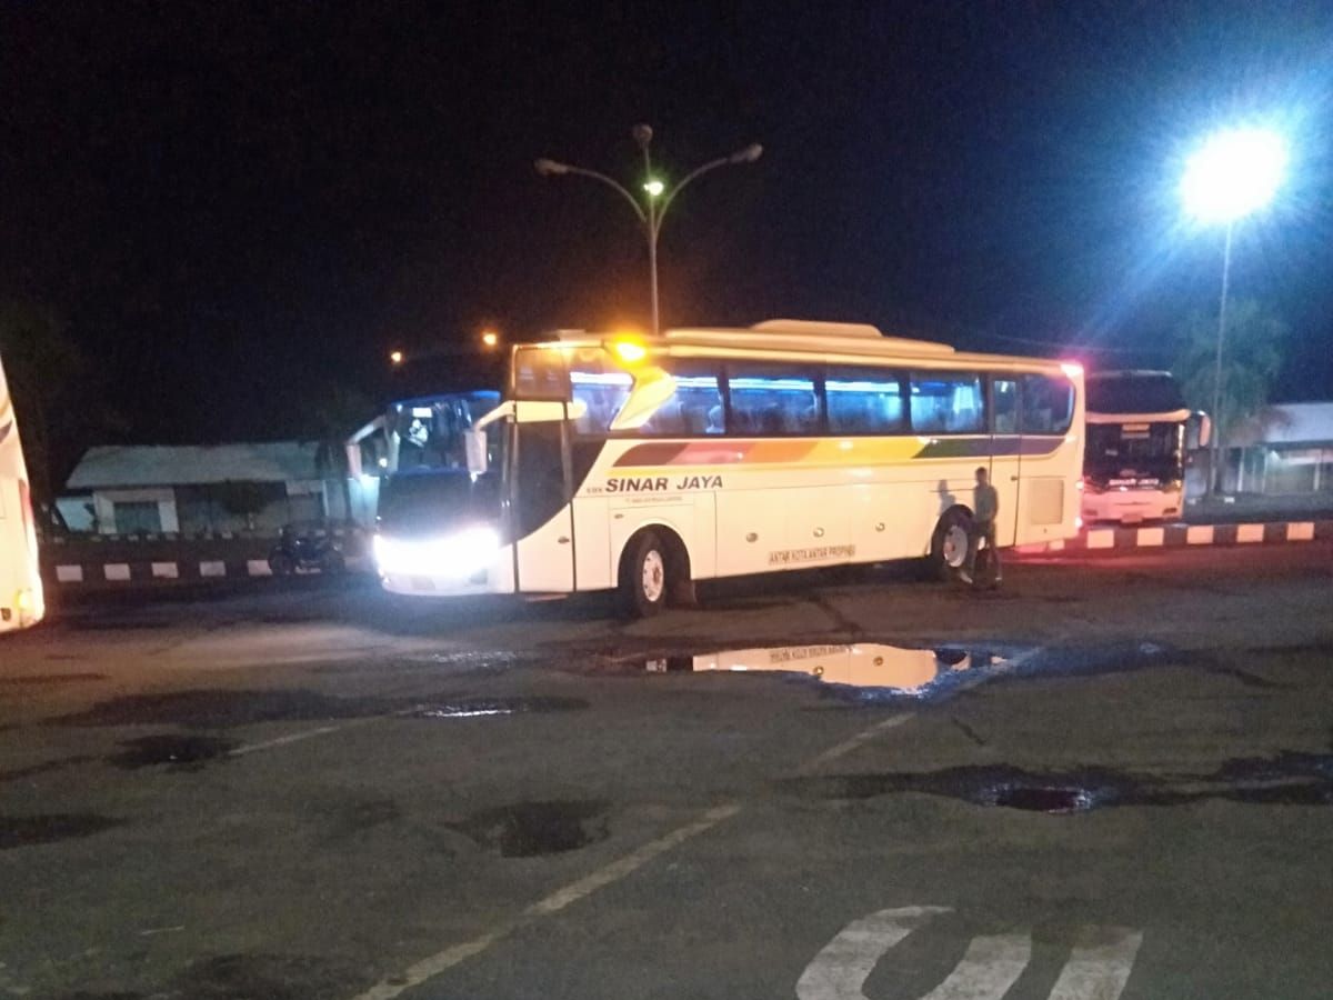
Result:
M0 296L57 308L145 443L289 433L385 355L647 323L637 179L762 143L672 208L666 324L870 321L1170 361L1221 233L1176 183L1277 124L1233 289L1333 399L1333 8L1320 4L21 3L0 12ZM367 415L369 416L369 413Z

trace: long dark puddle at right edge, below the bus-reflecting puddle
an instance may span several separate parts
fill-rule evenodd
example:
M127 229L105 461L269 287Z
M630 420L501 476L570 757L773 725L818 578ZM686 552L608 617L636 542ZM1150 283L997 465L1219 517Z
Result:
M873 799L917 792L973 805L1052 815L1109 805L1189 805L1224 800L1257 805L1333 805L1333 755L1241 757L1198 775L1140 775L1104 768L1034 773L1008 765L942 771L798 777L782 783L802 797Z

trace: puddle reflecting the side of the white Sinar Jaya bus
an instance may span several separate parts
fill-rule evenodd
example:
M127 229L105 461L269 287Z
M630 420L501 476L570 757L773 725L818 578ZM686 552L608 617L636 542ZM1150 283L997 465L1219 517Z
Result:
M1005 676L1076 676L1181 663L1154 643L1034 647L968 643L912 648L884 643L777 645L611 660L612 672L777 673L862 701L929 701Z

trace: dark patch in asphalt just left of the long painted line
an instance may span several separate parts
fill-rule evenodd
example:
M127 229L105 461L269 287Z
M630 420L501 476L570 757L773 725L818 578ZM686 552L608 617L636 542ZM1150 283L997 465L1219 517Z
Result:
M604 801L527 801L484 809L451 828L501 857L537 857L605 840L605 813Z

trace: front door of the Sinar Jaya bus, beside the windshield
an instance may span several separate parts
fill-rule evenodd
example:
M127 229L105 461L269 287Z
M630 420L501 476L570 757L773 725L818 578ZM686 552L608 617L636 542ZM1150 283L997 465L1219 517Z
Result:
M568 405L515 403L509 528L515 540L515 589L520 592L575 589Z

